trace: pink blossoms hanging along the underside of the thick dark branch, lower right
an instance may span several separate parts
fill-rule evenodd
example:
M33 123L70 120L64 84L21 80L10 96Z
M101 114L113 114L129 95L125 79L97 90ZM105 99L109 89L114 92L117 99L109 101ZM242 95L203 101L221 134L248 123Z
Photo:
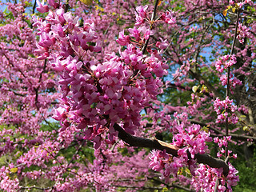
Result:
M165 151L152 150L150 154L150 167L152 170L160 171L162 173L161 178L165 178L166 182L169 181L170 174L174 177L178 177L178 170L182 167L188 166L190 173L194 176L191 179L191 185L194 186L196 191L214 191L216 179L220 179L221 183L218 185L218 191L232 191L231 186L236 186L239 181L238 171L229 164L229 174L224 177L222 174L222 168L210 168L204 164L196 164L196 161L190 159L187 161L187 157L182 156L173 157L170 154L166 154ZM225 186L226 183L226 186Z

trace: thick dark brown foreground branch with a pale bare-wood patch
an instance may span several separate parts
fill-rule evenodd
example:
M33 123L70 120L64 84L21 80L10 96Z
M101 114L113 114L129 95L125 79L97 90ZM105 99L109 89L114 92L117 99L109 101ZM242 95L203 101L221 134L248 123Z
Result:
M129 144L129 146L146 147L155 150L166 150L168 154L178 156L179 148L177 146L171 145L170 143L162 142L158 139L135 137L131 134L126 133L126 131L123 130L121 126L118 126L118 124L116 123L114 124L114 130L118 131L118 138L121 138L122 141ZM214 168L222 167L223 174L225 175L227 175L229 172L229 166L221 159L213 158L209 154L195 154L194 157L195 159L197 159L198 163L204 163Z

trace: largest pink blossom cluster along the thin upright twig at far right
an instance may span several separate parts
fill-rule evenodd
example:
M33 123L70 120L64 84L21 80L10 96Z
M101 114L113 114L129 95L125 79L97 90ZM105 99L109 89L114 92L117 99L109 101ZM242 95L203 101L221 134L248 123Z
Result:
M238 117L234 114L234 111L237 110L237 106L232 104L233 99L230 100L229 97L226 97L225 100L221 101L219 98L216 98L214 101L214 110L216 111L218 118L216 119L217 123L225 122L226 118L230 123L237 123ZM230 113L228 111L230 110Z

